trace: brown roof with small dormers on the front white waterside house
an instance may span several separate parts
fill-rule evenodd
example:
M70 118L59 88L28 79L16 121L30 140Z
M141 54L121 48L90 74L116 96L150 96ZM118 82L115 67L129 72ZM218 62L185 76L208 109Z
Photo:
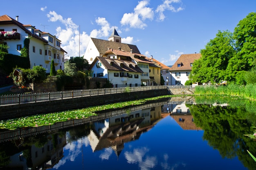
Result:
M92 62L89 70L92 69L92 66L94 66L97 60L99 60L108 70L143 73L143 71L138 66L136 66L134 62L130 62L126 60L110 59L106 57L96 57ZM123 67L120 66L121 63L123 63Z

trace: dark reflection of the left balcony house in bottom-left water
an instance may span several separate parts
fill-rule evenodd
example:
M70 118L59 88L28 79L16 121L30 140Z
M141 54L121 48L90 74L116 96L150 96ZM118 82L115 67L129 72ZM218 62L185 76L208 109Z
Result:
M35 141L37 143L38 141ZM25 141L16 141L19 147L26 145ZM47 142L38 147L32 144L25 146L22 152L10 157L10 163L4 169L9 170L46 170L52 168L63 157L63 147L66 145L66 137L56 134L47 135Z

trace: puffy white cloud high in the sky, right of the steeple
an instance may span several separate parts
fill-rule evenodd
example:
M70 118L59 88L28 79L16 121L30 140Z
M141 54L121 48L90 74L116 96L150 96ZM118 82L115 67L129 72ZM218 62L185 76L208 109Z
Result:
M135 7L134 13L125 13L120 23L122 26L129 25L132 28L144 29L147 24L146 19L153 20L154 11L152 8L146 7L149 4L148 0L142 0Z

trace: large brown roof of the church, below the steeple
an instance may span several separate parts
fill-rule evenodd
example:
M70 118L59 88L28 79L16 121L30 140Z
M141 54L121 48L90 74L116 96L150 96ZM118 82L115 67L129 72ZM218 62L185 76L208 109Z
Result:
M130 50L132 49L134 53L140 54L139 49L137 48L136 45L125 44L121 42L113 42L108 40L101 40L97 38L91 38L91 40L96 46L100 55L103 55L108 49L118 49L118 48L121 48L121 50L126 52L130 52Z

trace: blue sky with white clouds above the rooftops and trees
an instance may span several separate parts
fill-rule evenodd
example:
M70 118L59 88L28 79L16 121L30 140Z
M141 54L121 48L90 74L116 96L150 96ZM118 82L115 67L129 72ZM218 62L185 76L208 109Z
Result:
M108 40L115 28L123 43L169 66L200 53L218 30L233 32L251 12L256 0L44 0L7 3L0 15L56 35L69 57L83 56L90 37Z

